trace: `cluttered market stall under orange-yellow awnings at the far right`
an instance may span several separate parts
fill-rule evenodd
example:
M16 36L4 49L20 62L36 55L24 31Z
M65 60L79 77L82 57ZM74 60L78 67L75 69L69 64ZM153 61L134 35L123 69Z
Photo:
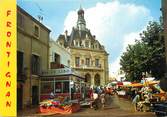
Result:
M137 102L136 107L138 111L150 111L153 103L166 100L165 92L161 90L159 81L145 80L142 84L143 87L139 90L140 100Z

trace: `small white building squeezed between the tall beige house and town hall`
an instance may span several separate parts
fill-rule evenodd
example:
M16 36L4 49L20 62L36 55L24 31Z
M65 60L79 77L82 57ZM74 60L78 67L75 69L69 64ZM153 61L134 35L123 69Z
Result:
M69 49L60 46L54 40L50 40L49 46L50 46L50 49L49 49L50 67L49 68L56 69L61 67L61 65L70 67L71 54L69 52Z

